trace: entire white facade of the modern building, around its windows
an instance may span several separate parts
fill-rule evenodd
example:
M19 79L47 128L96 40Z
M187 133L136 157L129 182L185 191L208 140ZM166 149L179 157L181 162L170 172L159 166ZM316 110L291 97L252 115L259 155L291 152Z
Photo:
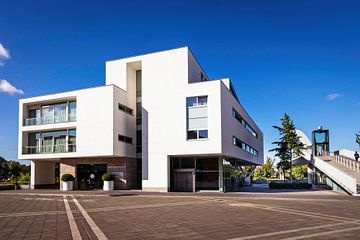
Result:
M205 97L206 104L188 108L190 97ZM27 106L69 99L77 102L76 121L23 125ZM133 114L120 111L119 103ZM139 107L141 118L136 113ZM234 117L234 110L241 118ZM209 81L187 47L108 61L106 86L22 99L19 112L19 159L138 158L143 190L170 190L173 156L263 163L263 134L240 105L230 80ZM76 152L23 154L28 132L64 128L76 128ZM141 130L141 144L137 130ZM188 139L188 131L205 137ZM130 137L132 143L119 141L119 134Z

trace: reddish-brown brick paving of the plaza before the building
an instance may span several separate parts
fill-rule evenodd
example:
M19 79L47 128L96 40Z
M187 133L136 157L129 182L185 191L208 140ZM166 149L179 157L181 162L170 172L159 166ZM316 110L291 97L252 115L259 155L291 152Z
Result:
M1 191L0 239L360 239L360 198L330 191L141 193Z

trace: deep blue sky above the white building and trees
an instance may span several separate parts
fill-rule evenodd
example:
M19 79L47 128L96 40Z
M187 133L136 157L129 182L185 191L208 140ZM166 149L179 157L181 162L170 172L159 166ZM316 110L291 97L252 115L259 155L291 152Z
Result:
M357 148L357 1L5 0L0 7L7 159L17 159L19 98L100 86L106 60L186 45L210 78L232 79L266 152L284 112L307 135L318 125L330 129L332 150Z

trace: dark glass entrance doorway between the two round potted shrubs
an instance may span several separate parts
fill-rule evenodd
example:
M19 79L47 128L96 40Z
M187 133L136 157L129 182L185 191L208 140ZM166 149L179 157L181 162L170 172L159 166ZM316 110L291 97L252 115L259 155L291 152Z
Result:
M101 178L106 172L106 164L78 164L76 166L78 189L101 189L103 187Z

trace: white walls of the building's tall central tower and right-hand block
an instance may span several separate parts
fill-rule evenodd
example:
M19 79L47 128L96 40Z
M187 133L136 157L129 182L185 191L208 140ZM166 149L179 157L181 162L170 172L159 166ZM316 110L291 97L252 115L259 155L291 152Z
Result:
M121 86L128 92L133 71L129 65L142 70L144 189L168 188L168 156L171 155L227 154L262 164L261 131L220 80L200 82L202 69L188 48L109 61L106 63L107 84ZM121 72L124 69L127 69L126 73ZM208 96L209 138L188 141L186 97L203 95ZM226 108L223 112L221 104ZM258 139L253 139L240 123L232 119L233 106L257 130ZM224 128L226 136L222 137ZM232 145L234 129L241 135L240 139L249 141L248 144L259 151L258 157Z

